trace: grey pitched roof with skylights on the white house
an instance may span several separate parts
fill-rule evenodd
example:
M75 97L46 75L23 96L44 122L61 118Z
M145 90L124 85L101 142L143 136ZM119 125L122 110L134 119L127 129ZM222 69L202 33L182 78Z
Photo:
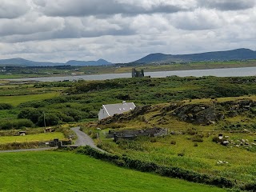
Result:
M134 102L122 102L118 104L103 105L102 107L105 108L109 116L113 116L114 114L123 114L129 110L134 110L136 106L134 105Z

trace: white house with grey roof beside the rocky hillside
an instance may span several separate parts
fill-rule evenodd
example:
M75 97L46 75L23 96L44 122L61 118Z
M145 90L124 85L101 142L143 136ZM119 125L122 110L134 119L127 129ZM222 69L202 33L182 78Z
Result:
M101 110L99 110L98 112L98 120L111 117L114 114L123 114L130 110L134 110L135 107L136 106L134 105L134 102L125 102L125 101L117 104L102 105Z

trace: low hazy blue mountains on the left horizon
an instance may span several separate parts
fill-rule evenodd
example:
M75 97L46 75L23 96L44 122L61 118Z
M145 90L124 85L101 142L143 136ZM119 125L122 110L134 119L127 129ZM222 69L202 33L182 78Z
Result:
M104 59L99 59L98 61L69 61L66 63L62 62L34 62L26 60L24 58L10 58L10 59L0 59L1 66L104 66L110 65L111 62L107 62Z

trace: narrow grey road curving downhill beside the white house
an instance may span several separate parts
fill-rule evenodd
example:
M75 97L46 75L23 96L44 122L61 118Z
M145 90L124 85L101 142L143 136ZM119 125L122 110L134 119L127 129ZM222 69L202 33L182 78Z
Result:
M98 146L95 146L94 140L92 138L90 138L87 134L82 132L80 130L80 126L71 128L71 130L73 130L74 133L78 137L76 142L74 142L73 146L91 146L91 147L93 147L96 150L100 150L102 152L106 152L105 150L102 150L102 149L98 148Z

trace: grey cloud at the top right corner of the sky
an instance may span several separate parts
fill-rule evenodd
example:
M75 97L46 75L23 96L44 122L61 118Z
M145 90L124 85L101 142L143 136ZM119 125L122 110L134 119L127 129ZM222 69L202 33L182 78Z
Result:
M255 6L255 0L199 0L198 5L217 10L247 10Z

